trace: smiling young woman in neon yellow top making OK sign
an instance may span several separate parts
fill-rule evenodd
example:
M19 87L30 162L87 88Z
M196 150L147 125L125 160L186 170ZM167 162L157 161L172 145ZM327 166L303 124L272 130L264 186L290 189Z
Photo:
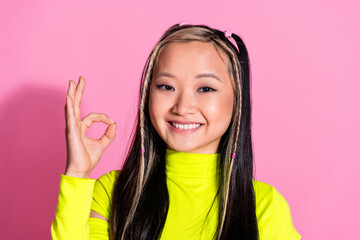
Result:
M97 180L88 176L116 124L98 113L81 120L85 80L69 81L52 238L300 239L286 200L253 179L249 81L239 36L173 25L145 64L123 168ZM98 140L85 137L95 121L109 125Z

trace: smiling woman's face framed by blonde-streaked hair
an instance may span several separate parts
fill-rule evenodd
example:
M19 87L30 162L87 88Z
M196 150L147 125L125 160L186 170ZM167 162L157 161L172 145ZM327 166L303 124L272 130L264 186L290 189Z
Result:
M200 41L162 49L150 85L149 113L167 148L217 153L233 102L225 53Z

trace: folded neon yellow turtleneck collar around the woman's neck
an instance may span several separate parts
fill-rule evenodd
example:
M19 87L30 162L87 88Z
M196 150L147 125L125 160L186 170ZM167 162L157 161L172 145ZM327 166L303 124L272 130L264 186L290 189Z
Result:
M214 179L220 153L186 153L166 149L166 173L172 177Z

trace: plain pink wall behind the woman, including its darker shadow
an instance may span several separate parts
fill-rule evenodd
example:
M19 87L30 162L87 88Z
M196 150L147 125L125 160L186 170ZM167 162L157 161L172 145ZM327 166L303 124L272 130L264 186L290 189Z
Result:
M359 1L248 2L1 1L0 239L50 238L68 80L87 80L82 117L103 112L118 123L97 178L121 166L145 60L179 21L243 37L256 179L286 198L297 231L357 239ZM88 136L104 129L95 124Z

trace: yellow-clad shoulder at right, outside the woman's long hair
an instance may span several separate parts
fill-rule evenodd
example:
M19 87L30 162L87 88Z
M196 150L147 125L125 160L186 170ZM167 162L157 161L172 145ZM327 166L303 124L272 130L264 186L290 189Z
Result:
M274 186L265 182L253 180L253 186L260 235L283 237L278 239L300 239L284 196Z

